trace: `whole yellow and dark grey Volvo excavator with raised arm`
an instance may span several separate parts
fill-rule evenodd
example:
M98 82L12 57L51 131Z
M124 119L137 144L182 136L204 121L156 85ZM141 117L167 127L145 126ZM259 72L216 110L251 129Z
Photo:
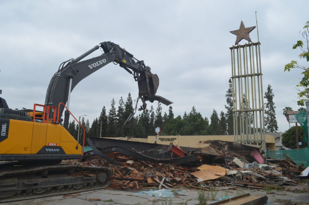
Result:
M101 55L81 61L99 48L103 50ZM0 202L38 194L105 188L110 184L111 172L107 168L61 164L61 160L83 157L85 139L82 146L66 130L69 117L73 116L69 111L72 90L81 80L111 62L124 68L138 82L141 110L146 108L146 101L172 103L156 95L159 78L151 73L150 67L110 41L61 63L49 83L44 105L34 104L30 111L13 110L0 98ZM76 175L77 172L87 174Z

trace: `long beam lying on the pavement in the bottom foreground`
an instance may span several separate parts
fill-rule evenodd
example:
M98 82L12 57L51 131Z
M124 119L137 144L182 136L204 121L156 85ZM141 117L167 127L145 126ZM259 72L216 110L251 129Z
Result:
M228 198L222 201L211 203L211 205L262 205L267 202L268 197L265 196L250 196L250 194L243 194L233 198Z

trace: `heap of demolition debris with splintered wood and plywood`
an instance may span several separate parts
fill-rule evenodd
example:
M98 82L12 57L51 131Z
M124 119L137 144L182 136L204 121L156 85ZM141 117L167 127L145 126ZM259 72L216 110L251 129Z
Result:
M176 186L199 188L199 184L202 184L205 190L213 186L216 188L242 186L256 189L265 189L265 187L283 189L284 185L296 185L299 178L295 177L304 171L302 165L297 166L287 156L286 159L266 159L261 155L259 147L218 140L203 143L209 146L197 149L195 152L193 148L183 151L180 147L173 147L174 145L170 145L167 150L161 149L162 155L169 156L167 159L169 163L140 159L141 156L146 156L144 153L147 153L149 149L128 151L126 147L124 151L119 146L116 149L98 147L98 150L109 151L101 151L100 155L89 152L85 157L87 160L83 162L68 160L66 163L108 167L112 171L112 176L109 177L112 179L108 187L110 189L140 189L158 186L167 189L173 189ZM161 145L154 144L154 146ZM119 150L126 152L126 155ZM104 154L104 159L101 154ZM174 154L176 158L173 158ZM192 155L195 158L178 160L181 157ZM155 156L155 159L159 159L159 154L156 153ZM146 159L148 157L146 156ZM173 163L173 159L177 159L177 163Z

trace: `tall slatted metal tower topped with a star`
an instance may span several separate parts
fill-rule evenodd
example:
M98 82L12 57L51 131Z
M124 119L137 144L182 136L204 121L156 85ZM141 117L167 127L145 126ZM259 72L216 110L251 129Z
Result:
M243 21L235 34L235 46L231 50L234 141L261 145L264 150L265 125L262 86L260 42L253 43L249 33L256 26L246 28ZM258 32L258 31L257 31ZM239 45L241 40L248 44Z

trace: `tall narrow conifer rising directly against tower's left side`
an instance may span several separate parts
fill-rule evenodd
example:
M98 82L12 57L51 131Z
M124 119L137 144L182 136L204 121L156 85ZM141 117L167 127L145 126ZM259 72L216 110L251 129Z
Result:
M229 89L225 94L227 105L226 109L226 124L227 124L227 134L233 134L234 132L234 121L233 121L233 90L232 90L232 80L229 80Z

